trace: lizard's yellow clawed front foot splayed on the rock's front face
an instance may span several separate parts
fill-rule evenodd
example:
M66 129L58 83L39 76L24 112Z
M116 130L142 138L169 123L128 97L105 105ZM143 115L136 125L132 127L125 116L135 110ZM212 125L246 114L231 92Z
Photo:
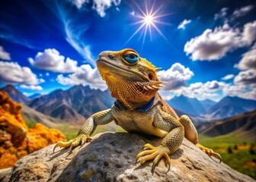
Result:
M144 162L147 162L151 159L154 159L153 165L152 165L152 172L155 170L155 165L158 164L159 160L162 157L165 157L166 161L165 164L168 166L168 171L170 170L171 167L171 159L169 157L170 150L168 149L167 146L152 146L149 143L143 146L143 149L146 148L145 151L140 152L137 157L136 157L136 162L140 159L140 164L142 165ZM147 156L145 156L147 155ZM167 172L168 172L167 171Z

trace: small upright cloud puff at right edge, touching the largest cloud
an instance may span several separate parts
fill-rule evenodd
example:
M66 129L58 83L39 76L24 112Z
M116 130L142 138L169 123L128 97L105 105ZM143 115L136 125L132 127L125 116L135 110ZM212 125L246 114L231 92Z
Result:
M242 38L247 43L247 45L251 45L251 43L256 40L256 20L244 25Z

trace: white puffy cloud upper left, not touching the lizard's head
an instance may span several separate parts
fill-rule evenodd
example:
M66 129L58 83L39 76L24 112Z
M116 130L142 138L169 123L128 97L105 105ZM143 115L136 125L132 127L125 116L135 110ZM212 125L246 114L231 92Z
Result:
M38 52L36 58L29 58L30 64L40 69L55 71L58 73L73 73L77 69L77 61L60 55L56 49L45 49Z

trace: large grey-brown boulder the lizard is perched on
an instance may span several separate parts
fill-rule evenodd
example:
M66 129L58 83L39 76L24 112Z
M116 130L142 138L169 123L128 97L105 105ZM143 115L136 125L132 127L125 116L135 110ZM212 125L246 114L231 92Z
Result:
M171 155L166 174L165 159L152 174L152 162L136 164L145 143L158 145L134 133L98 133L91 143L68 149L47 146L21 158L13 168L0 171L0 181L254 181L251 177L213 161L187 139Z

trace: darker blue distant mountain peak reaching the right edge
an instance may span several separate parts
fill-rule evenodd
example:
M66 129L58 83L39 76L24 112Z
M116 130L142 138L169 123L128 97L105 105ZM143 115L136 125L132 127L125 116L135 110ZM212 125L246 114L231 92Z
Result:
M207 118L221 119L256 109L256 101L226 96L207 111Z

